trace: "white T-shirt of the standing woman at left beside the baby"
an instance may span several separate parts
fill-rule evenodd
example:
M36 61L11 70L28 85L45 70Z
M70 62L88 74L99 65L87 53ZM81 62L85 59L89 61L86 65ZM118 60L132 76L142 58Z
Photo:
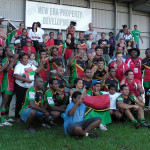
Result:
M34 74L35 74L35 70L37 68L34 65L31 64L27 64L26 66L23 65L22 63L18 63L14 69L14 74L18 74L20 76L25 75L25 73L27 75L29 75L29 79L32 81L32 83L27 83L27 82L23 82L20 80L15 80L16 84L18 84L21 87L24 88L30 88L31 86L34 85Z

